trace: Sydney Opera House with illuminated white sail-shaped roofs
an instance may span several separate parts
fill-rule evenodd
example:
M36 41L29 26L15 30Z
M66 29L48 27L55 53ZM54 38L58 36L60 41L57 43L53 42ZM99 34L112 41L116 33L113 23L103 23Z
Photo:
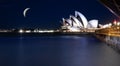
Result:
M67 32L87 32L98 27L97 19L88 21L87 18L78 11L75 11L75 16L70 15L68 19L63 18L62 23L62 30Z

